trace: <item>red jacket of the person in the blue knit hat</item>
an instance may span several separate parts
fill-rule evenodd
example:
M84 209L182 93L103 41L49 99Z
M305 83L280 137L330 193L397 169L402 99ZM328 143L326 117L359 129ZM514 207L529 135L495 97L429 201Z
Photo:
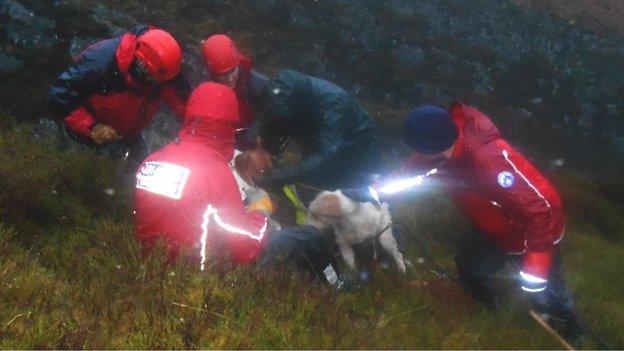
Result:
M459 137L436 177L487 240L504 252L524 254L526 273L548 277L565 224L557 190L485 114L454 103L450 115Z

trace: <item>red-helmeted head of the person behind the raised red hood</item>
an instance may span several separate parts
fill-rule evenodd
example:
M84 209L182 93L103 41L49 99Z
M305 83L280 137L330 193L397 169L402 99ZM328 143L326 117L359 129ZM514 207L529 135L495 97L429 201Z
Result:
M229 86L236 87L240 75L240 54L236 44L223 34L215 34L204 41L202 48L204 63L212 80Z

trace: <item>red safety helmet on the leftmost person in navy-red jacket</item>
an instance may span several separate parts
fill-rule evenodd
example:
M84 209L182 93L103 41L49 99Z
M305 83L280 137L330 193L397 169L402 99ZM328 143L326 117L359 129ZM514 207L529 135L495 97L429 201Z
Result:
M182 50L171 34L150 29L137 38L134 56L145 64L158 82L172 79L180 72Z

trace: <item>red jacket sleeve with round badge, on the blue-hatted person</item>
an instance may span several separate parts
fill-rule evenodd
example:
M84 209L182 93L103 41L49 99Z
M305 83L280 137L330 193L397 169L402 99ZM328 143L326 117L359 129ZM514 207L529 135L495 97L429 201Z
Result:
M525 239L523 272L547 279L553 247L563 234L563 210L546 197L545 178L522 155L509 146L492 144L477 160L481 181L487 182L484 189L493 189L493 205L509 211L518 235Z

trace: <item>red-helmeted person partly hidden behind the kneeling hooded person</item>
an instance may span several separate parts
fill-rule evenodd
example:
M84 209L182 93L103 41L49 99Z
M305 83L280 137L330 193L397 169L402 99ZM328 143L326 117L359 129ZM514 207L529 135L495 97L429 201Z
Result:
M202 51L210 79L236 92L241 119L238 128L249 127L269 79L252 69L251 59L242 55L226 35L215 34L207 38Z

